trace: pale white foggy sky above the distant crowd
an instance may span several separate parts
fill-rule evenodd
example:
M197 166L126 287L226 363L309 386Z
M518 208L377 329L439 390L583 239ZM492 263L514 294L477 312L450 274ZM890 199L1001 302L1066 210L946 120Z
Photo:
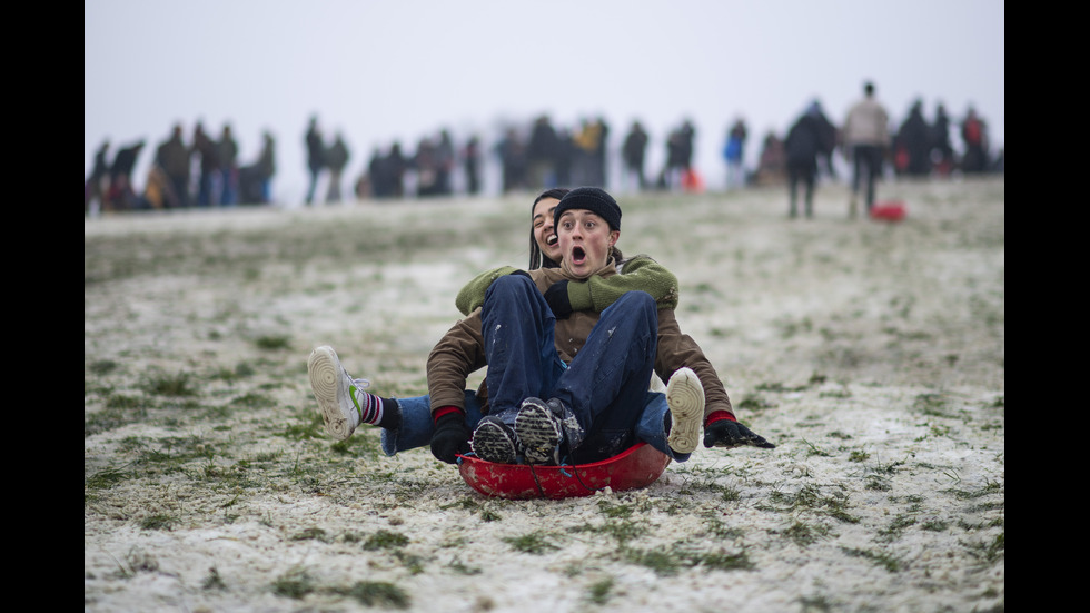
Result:
M764 134L815 98L840 123L866 79L898 125L918 98L929 120L939 102L955 121L972 105L1001 146L1004 13L987 0L85 0L85 176L103 138L111 154L142 138L139 188L174 123L188 141L198 119L214 135L230 122L242 164L276 136L275 197L300 200L310 115L344 135L347 181L374 147L412 152L440 128L460 145L547 112L569 127L602 115L614 146L640 119L648 171L690 118L714 187L735 117L752 167Z

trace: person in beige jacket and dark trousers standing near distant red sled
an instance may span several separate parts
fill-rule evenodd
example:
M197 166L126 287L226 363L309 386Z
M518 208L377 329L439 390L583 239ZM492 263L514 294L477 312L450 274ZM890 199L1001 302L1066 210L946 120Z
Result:
M852 162L852 199L849 216L855 217L860 184L866 182L865 204L874 206L874 182L882 174L882 158L890 146L890 116L874 98L874 83L863 83L863 99L848 111L842 131L843 154Z

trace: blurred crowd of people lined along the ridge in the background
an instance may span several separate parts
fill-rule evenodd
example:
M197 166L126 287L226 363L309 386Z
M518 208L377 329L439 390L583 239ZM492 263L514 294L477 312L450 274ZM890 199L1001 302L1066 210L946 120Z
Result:
M786 184L794 210L799 186L810 198L819 176L836 178L833 152L838 147L850 159L842 127L829 120L820 101L814 100L786 134L770 131L763 137L755 166L746 169L743 160L749 130L744 119L735 118L723 139L724 187ZM937 106L934 119L928 121L922 100L916 100L900 126L890 123L888 129L888 146L882 148L879 167L874 169L879 176L886 168L898 177L1003 171L1003 151L992 151L988 125L972 107L960 125L954 125L942 103ZM960 154L953 146L955 132L961 137ZM556 126L548 115L541 115L527 126L506 128L490 148L476 135L467 137L459 147L449 130L440 129L420 138L415 151L404 150L399 141L387 148L373 148L349 189L343 190L353 159L348 142L339 132L326 142L317 116L311 116L304 137L309 171L305 202L308 206L318 200L339 202L346 194L357 200L450 196L456 191L454 177L459 172L457 191L475 196L482 194L485 166L492 160L498 164L503 194L614 184L626 191L698 191L704 189L704 184L694 167L695 135L696 129L687 119L672 129L663 141L664 162L655 172L646 168L652 137L638 120L628 126L615 149L604 117L586 118L578 126L568 127ZM269 131L261 138L257 159L241 165L230 123L225 123L215 138L197 121L188 142L182 126L175 125L156 147L142 190L136 188L132 172L145 140L118 148L110 159L111 142L107 138L97 149L90 175L85 179L85 215L92 210L271 204L276 140ZM608 177L611 155L620 156L620 177ZM319 185L326 186L324 196L316 194Z

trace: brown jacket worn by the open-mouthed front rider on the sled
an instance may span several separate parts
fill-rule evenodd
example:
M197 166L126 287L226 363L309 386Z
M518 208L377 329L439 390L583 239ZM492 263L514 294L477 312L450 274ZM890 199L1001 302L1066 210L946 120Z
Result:
M605 267L595 273L603 277L616 275L616 268L611 259ZM529 273L537 288L544 294L554 283L568 278L559 268L539 268ZM597 324L601 313L593 310L575 312L567 319L556 320L555 345L561 359L571 364L575 354L586 343L587 336ZM456 406L465 409L466 378L477 369L487 366L484 352L484 336L480 332L480 308L476 308L466 318L455 324L432 349L427 362L428 394L432 397L432 411L445 406ZM658 309L658 350L655 357L655 373L664 382L678 368L692 368L704 387L704 415L715 411L726 411L734 414L726 388L720 380L715 368L704 356L704 352L695 340L683 334L674 310ZM477 395L482 403L487 402L487 389L480 385ZM487 408L485 409L487 412Z

